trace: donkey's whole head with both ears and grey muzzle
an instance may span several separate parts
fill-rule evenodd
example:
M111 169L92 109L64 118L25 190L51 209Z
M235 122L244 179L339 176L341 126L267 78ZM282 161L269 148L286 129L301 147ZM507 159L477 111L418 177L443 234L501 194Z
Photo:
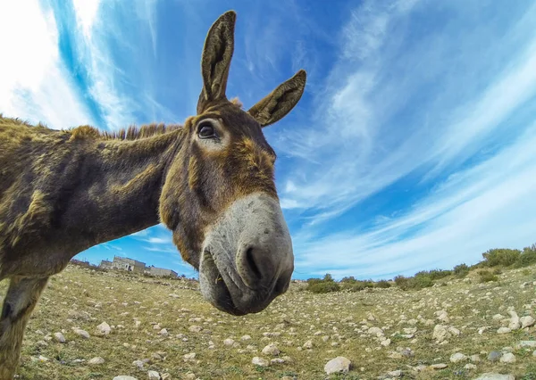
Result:
M266 127L297 104L306 71L282 83L247 112L226 95L235 12L208 32L197 116L167 174L160 215L184 260L199 270L201 292L216 308L244 315L284 293L294 270L289 228L275 189L275 153Z

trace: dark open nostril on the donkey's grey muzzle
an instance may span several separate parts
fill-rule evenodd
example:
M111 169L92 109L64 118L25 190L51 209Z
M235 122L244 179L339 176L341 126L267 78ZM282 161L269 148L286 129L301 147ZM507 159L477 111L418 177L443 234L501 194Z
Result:
M239 276L248 287L255 289L272 285L278 272L277 255L262 244L244 245L237 257Z

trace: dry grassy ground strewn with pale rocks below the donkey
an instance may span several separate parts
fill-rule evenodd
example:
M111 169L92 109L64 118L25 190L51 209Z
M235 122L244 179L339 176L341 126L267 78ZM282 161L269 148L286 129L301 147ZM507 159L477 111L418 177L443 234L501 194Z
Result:
M29 322L18 378L536 379L535 269L418 292L292 285L237 318L193 282L70 266Z

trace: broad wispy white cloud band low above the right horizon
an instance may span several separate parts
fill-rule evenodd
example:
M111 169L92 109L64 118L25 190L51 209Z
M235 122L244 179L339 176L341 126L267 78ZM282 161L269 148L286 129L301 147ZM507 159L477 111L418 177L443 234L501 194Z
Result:
M536 241L536 125L515 145L459 171L398 219L368 232L346 231L322 240L295 240L297 270L336 277L413 275L482 260L490 248Z

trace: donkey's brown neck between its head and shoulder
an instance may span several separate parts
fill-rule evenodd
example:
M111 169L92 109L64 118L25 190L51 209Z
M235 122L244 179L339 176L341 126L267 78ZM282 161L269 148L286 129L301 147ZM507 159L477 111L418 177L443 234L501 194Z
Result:
M159 222L163 180L183 134L178 129L138 140L88 142L80 160L82 185L64 214L81 244L104 243Z

